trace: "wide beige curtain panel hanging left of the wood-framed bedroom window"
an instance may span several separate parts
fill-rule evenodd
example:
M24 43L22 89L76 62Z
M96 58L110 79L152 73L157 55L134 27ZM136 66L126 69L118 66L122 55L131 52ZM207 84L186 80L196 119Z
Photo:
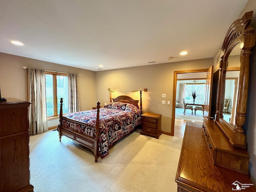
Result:
M48 130L46 115L45 70L28 68L28 109L30 134Z

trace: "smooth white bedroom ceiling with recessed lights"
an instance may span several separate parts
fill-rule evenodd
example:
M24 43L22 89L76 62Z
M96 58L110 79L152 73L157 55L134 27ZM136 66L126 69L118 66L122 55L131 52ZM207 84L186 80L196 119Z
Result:
M92 71L211 58L247 1L1 0L0 52Z

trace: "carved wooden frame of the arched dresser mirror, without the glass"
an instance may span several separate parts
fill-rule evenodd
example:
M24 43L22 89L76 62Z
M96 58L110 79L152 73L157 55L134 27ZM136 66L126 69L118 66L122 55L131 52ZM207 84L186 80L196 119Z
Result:
M232 23L225 36L221 50L224 55L220 60L220 79L218 84L218 95L216 102L216 124L228 137L230 143L236 148L246 148L246 138L243 126L246 120L249 67L251 49L255 45L254 28L249 26L253 11L246 12L244 16ZM241 44L240 52L240 76L238 82L238 97L235 115L235 125L232 126L223 119L225 79L228 68L228 57L232 49Z

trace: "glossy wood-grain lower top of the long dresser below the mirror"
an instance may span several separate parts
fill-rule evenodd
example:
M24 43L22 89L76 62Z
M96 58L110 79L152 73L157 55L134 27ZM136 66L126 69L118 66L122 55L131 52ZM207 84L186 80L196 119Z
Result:
M256 192L247 174L214 165L202 124L187 122L176 174L178 192Z

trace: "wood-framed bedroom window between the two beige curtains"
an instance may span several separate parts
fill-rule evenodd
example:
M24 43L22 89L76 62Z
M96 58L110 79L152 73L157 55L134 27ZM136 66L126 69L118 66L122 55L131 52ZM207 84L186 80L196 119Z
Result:
M68 113L68 76L46 72L46 112L47 117L60 114L60 98L63 98L63 113Z

